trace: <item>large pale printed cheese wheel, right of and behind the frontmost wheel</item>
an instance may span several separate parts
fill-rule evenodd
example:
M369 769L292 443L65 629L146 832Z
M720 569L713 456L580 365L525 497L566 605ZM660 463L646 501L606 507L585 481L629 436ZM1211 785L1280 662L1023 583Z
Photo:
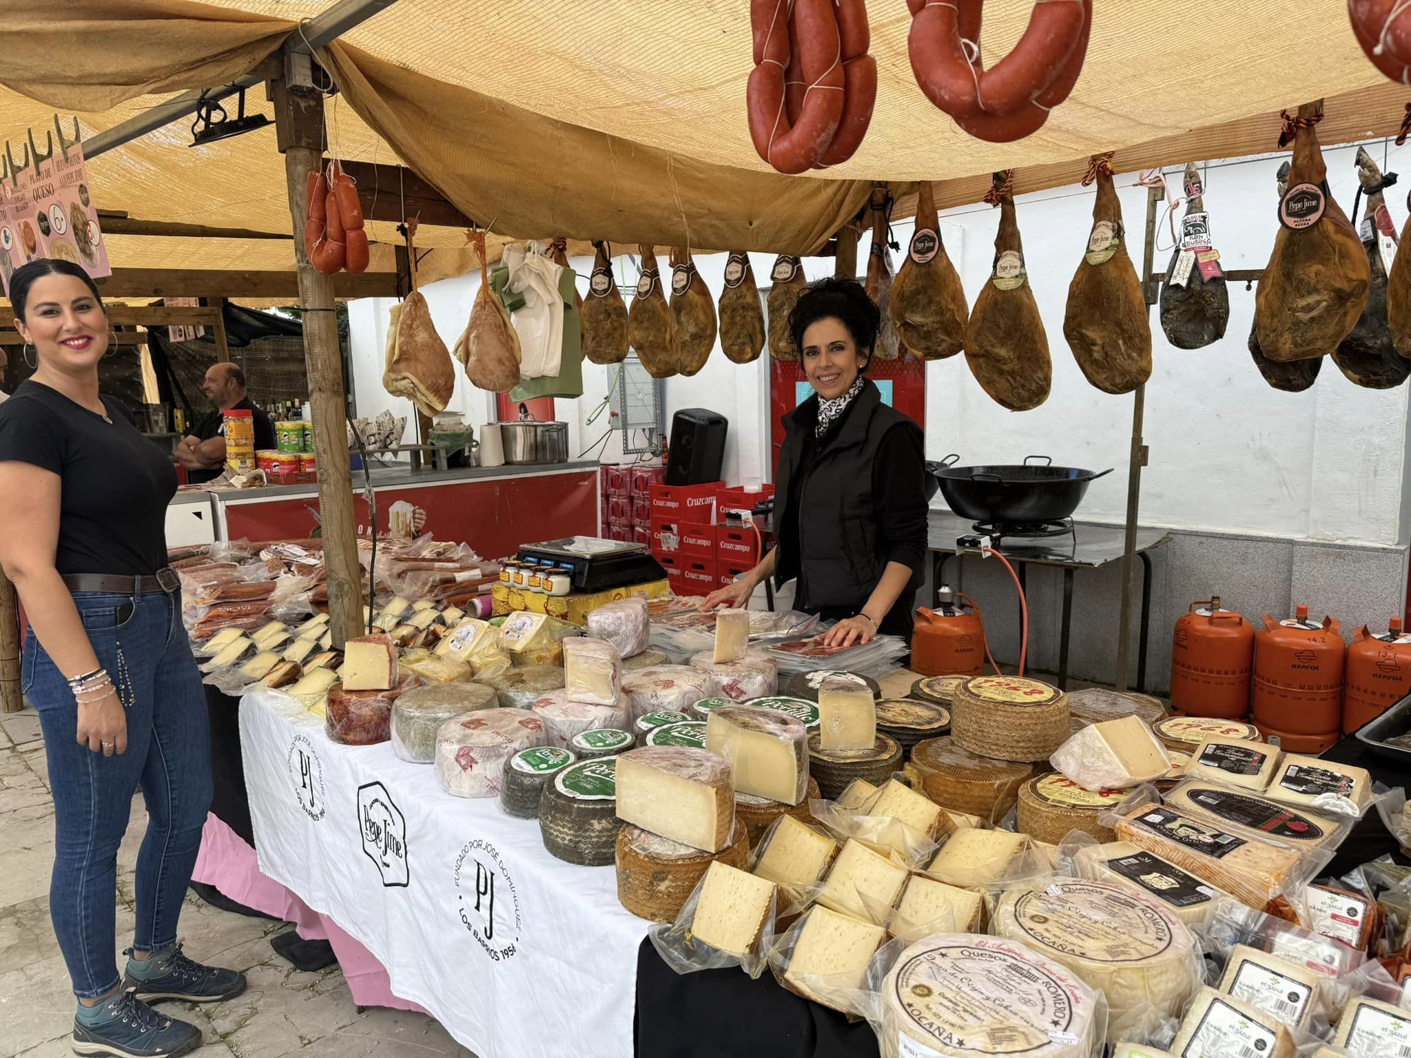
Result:
M1158 1011L1178 1016L1201 986L1195 937L1165 908L1105 882L1057 880L1010 889L993 930L1060 962L1108 996L1108 1038Z

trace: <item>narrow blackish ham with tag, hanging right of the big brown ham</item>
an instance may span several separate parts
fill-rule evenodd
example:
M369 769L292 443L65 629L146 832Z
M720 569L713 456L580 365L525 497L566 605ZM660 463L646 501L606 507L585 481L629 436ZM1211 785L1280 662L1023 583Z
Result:
M1394 389L1411 375L1411 360L1397 353L1391 341L1391 327L1387 326L1387 265L1383 245L1390 244L1393 250L1395 248L1395 227L1391 224L1383 195L1386 183L1381 169L1363 147L1357 148L1357 181L1366 195L1357 234L1367 254L1371 281L1367 286L1367 308L1362 310L1352 333L1332 351L1332 363L1355 385L1367 389Z

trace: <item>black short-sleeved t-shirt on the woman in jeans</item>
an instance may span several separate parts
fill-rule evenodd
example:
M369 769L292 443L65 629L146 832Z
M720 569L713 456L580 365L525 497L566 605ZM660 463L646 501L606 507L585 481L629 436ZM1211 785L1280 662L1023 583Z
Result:
M111 423L56 389L21 384L0 403L0 461L62 478L59 573L148 577L166 564L176 470L117 399L104 396L103 406Z

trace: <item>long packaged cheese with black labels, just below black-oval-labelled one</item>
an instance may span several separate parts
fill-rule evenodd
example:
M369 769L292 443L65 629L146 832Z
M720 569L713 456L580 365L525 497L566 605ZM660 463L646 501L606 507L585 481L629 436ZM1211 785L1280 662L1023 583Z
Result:
M1115 829L1119 839L1154 852L1250 907L1263 907L1283 893L1302 855L1160 804L1132 810Z

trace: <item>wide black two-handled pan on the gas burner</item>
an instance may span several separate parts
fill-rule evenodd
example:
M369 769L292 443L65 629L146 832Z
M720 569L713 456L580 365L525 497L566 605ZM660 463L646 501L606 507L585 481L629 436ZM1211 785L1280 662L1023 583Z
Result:
M1048 456L1027 456L1022 466L957 467L957 454L926 470L941 487L947 506L976 522L1057 522L1078 509L1088 484L1112 468L1055 467ZM1044 460L1041 466L1030 460Z

